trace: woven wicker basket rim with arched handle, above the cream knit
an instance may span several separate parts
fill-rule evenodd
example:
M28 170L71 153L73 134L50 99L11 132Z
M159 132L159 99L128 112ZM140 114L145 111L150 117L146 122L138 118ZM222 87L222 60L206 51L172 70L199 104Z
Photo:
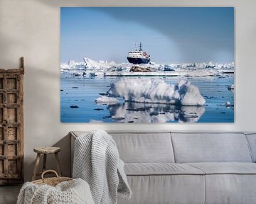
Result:
M56 175L56 177L53 177L53 178L44 178L43 176L46 174L46 173L54 173ZM56 186L58 185L58 183L61 183L63 181L72 181L73 179L71 178L68 178L68 177L62 177L62 176L58 176L58 173L56 171L53 171L53 170L47 170L47 171L43 171L43 174L41 176L42 179L38 179L36 181L32 181L32 183L35 183L35 184L47 184L49 186Z

